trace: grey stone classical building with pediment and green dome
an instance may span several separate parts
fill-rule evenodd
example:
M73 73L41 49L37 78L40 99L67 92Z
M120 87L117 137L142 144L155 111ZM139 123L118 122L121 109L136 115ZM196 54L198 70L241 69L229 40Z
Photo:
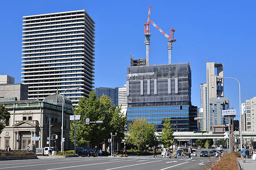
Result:
M64 102L64 150L73 149L73 143L69 140L70 115L73 115L72 102L58 91L47 96L43 101L34 100L8 100L0 101L10 113L10 119L6 127L0 133L0 149L8 145L12 150L26 150L33 143L36 147L48 147L49 122L51 122L51 146L57 146L61 150L61 119L62 102ZM56 135L58 139L56 139ZM40 137L39 141L32 141L33 136Z

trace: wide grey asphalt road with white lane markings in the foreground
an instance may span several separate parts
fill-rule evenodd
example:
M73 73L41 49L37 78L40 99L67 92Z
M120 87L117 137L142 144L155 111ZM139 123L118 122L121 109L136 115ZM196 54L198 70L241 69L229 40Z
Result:
M0 161L0 170L191 170L203 169L215 157L178 157L177 159L153 156L79 157Z

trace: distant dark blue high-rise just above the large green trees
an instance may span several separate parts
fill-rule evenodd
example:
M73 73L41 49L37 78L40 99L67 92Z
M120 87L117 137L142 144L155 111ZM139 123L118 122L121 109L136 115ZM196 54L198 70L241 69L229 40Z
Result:
M95 88L95 92L99 99L104 94L112 99L111 105L118 106L118 88Z

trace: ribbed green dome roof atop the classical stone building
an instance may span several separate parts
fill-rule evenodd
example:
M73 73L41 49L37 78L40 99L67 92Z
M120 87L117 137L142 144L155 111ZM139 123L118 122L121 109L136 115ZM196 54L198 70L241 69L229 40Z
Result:
M51 103L54 105L62 105L63 97L61 94L59 94L58 90L55 94L49 95L46 98L44 98L43 102ZM64 107L72 108L72 102L69 98L64 96Z

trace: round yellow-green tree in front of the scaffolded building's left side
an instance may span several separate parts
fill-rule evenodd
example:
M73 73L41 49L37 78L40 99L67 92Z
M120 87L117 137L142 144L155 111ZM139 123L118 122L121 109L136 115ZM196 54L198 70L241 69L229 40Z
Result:
M146 119L133 120L129 126L129 133L126 141L128 143L139 145L140 150L146 148L146 144L154 146L155 127L153 123L148 123Z

